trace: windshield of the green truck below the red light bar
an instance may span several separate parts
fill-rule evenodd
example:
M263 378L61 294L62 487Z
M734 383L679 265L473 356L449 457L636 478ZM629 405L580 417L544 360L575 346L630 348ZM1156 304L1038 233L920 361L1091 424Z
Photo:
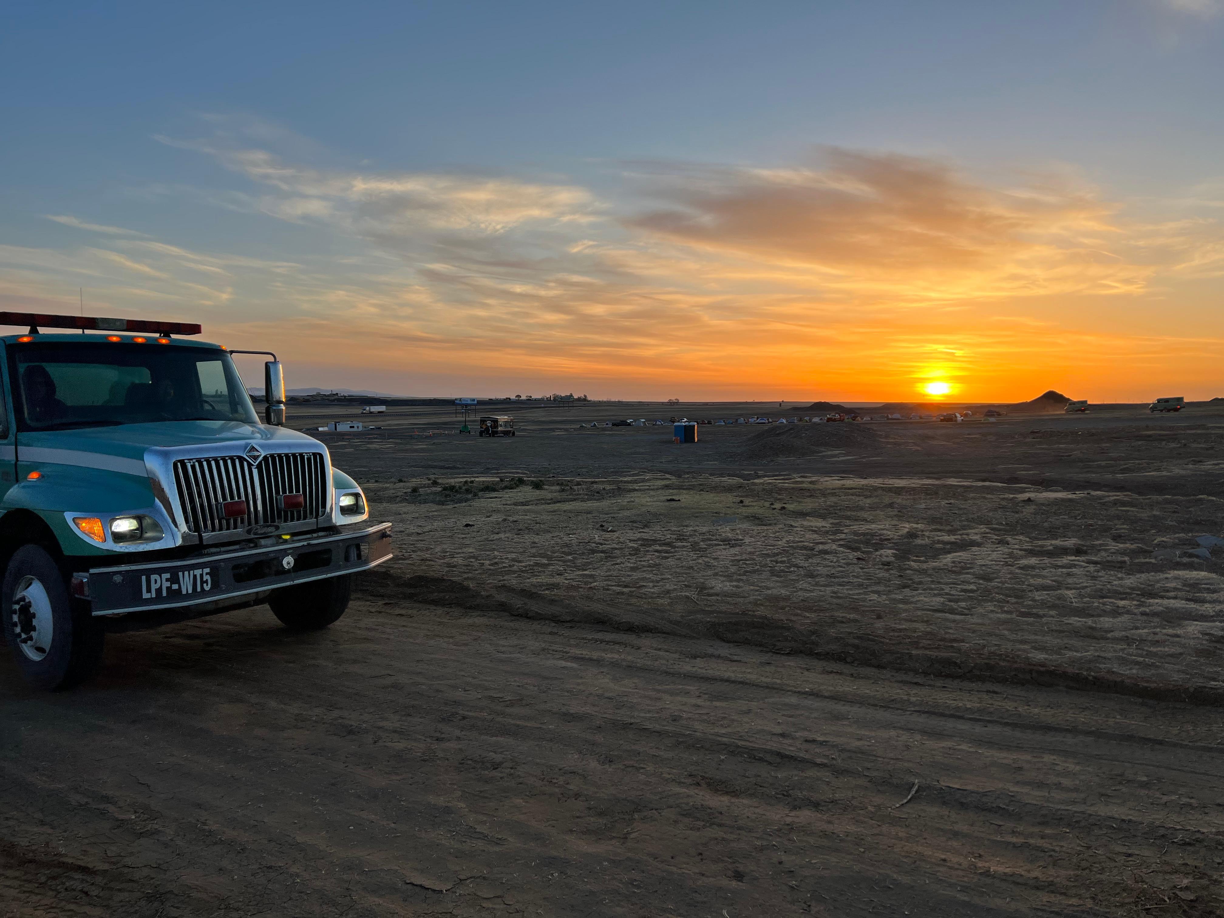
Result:
M10 348L24 431L160 421L258 424L230 355L211 348L126 343Z

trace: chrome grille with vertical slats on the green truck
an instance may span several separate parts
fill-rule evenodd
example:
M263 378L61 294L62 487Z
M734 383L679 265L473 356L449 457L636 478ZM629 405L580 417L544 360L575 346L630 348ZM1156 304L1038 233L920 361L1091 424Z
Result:
M327 465L319 453L264 453L258 465L240 455L179 459L174 481L187 531L237 532L247 526L312 520L327 513ZM284 494L302 507L280 508ZM223 504L246 501L246 515L226 518Z

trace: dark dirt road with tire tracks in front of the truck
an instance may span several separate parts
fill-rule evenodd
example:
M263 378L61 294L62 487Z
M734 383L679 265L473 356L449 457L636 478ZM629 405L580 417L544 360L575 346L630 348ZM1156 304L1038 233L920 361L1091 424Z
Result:
M1215 916L1224 711L367 595L0 676L0 916Z

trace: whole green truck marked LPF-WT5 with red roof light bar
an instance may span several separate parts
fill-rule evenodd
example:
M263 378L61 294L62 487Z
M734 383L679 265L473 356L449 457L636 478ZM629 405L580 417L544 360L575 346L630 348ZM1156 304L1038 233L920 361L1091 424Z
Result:
M92 676L109 632L264 602L324 628L390 557L361 487L285 428L274 354L175 322L0 324L29 326L0 337L0 641L35 687ZM235 353L272 357L263 419Z

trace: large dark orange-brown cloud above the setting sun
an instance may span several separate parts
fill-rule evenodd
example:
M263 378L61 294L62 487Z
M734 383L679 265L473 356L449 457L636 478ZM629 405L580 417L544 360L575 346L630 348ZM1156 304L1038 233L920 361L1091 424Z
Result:
M1135 291L1151 275L1108 251L1118 208L1091 190L991 188L918 157L831 148L804 168L672 168L644 184L676 206L630 226L830 289L927 302Z

